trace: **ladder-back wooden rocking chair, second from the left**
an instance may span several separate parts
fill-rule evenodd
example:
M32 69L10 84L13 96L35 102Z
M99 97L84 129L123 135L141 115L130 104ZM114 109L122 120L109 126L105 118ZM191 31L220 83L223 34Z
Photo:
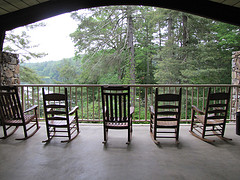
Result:
M61 141L70 142L80 133L78 122L78 106L75 106L68 112L67 88L65 93L50 93L43 92L44 112L47 128L47 137L45 143L52 140L53 137L68 137L67 140ZM71 116L75 114L74 116Z

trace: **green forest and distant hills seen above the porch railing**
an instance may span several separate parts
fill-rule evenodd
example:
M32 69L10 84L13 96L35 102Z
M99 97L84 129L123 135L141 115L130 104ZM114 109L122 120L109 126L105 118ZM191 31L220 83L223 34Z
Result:
M144 6L76 11L75 57L23 63L21 82L62 84L230 84L240 28ZM26 61L25 61L26 62ZM25 78L27 77L27 78Z

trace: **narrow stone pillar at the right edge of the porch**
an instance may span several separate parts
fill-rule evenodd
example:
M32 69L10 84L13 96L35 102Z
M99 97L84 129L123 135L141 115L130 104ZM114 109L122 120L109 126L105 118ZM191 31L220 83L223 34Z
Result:
M232 84L240 85L240 51L233 52L232 55ZM238 92L237 88L233 88L232 117L230 117L231 119L235 119L236 112L240 110L240 101L237 101L239 98L240 92Z

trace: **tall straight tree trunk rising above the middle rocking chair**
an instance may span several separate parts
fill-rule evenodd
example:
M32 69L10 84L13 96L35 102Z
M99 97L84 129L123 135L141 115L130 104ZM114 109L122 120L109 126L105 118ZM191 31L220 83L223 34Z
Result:
M133 46L133 20L132 20L132 11L131 7L127 7L127 29L128 29L128 35L127 35L127 42L128 42L128 49L130 54L130 83L135 84L136 83L136 77L135 77L135 61L134 61L134 46Z

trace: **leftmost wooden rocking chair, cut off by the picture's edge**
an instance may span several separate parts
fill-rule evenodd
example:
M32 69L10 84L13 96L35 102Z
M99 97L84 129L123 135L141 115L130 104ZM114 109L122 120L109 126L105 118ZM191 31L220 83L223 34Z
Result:
M19 126L23 127L24 138L16 140L25 140L32 137L40 128L37 119L37 107L37 105L34 105L23 111L18 88L16 86L0 86L0 120L4 133L1 139L11 136ZM33 113L29 114L31 111ZM28 131L33 127L36 127L35 130L28 134Z

